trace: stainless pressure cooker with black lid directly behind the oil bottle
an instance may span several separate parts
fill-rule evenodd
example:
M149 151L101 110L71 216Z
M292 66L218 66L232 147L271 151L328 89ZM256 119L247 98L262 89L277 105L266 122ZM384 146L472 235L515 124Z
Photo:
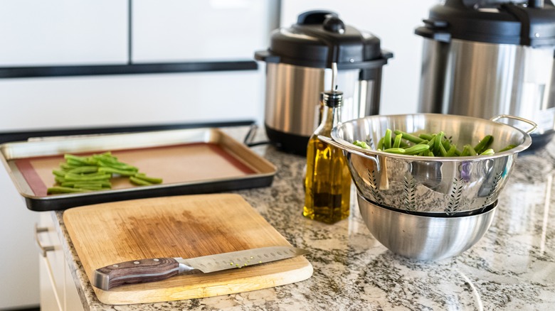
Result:
M301 13L290 28L270 34L255 53L266 63L265 130L282 151L305 155L319 124L320 94L335 84L344 94L342 120L379 114L381 69L393 54L380 39L348 26L332 11Z

